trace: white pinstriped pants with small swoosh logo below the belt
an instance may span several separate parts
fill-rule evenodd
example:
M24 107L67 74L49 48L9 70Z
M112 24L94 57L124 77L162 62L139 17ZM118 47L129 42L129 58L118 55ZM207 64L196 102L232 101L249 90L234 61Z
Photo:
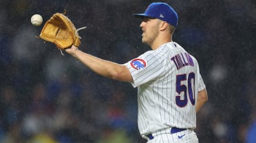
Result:
M147 143L198 143L198 137L192 130L180 131L178 133L161 133L153 136Z

